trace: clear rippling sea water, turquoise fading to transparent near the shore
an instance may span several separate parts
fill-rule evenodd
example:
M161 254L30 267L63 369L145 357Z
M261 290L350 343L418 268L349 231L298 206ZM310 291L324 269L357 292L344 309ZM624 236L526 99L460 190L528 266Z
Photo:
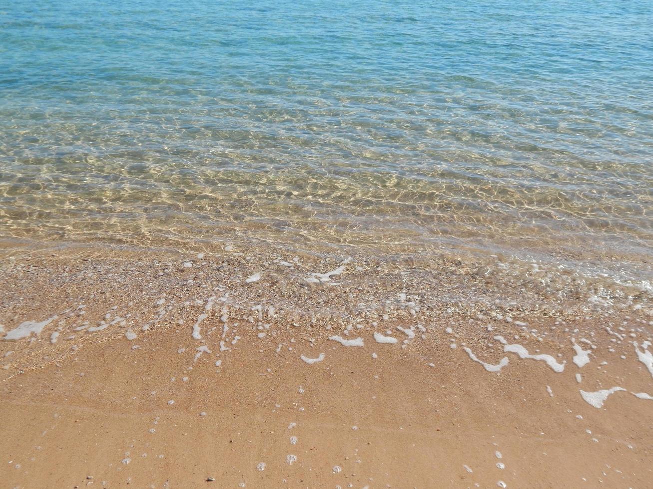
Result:
M2 1L0 232L650 263L651 33L650 1Z

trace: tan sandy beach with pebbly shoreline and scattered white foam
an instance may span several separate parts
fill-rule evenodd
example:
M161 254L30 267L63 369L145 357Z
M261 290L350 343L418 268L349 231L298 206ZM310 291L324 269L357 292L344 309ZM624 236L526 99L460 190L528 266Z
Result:
M238 246L0 263L3 487L653 485L641 289Z

